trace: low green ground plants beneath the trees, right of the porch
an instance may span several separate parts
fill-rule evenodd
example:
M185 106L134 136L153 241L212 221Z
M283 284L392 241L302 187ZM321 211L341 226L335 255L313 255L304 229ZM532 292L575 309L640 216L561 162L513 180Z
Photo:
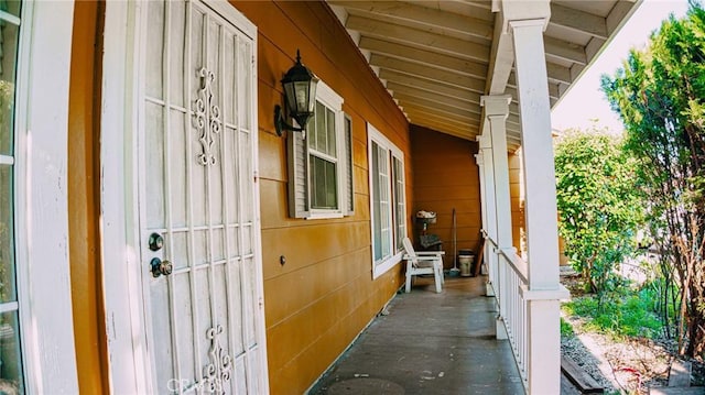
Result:
M570 315L586 318L587 330L605 332L615 338L654 338L661 333L662 326L653 311L653 294L641 290L601 303L589 296L576 298L564 304L563 309Z

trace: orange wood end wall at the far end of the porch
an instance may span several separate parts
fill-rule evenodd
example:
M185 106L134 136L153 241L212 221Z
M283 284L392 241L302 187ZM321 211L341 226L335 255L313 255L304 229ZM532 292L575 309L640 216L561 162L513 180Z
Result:
M477 143L437 133L416 125L412 130L414 168L413 213L435 211L436 223L429 233L438 234L446 252L445 266L452 267L453 209L456 210L457 250L479 249L481 213ZM412 222L413 223L413 222ZM414 235L417 235L414 229ZM417 239L416 239L417 242Z

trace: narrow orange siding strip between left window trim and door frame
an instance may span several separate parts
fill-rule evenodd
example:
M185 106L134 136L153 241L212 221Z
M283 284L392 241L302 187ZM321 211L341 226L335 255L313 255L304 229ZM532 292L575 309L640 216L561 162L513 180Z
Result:
M74 4L68 108L68 250L74 341L82 394L107 394L100 289L98 124L102 4Z

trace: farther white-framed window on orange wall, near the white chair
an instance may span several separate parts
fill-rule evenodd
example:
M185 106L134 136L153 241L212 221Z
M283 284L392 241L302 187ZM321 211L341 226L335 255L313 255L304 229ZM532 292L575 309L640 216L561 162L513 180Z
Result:
M377 278L401 261L401 241L406 237L404 154L370 124L368 135L372 276Z

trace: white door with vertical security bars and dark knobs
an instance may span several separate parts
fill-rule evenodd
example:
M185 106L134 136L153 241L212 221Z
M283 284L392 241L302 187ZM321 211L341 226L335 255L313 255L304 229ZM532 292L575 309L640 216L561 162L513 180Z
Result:
M199 1L144 4L138 168L152 387L259 394L254 41Z

